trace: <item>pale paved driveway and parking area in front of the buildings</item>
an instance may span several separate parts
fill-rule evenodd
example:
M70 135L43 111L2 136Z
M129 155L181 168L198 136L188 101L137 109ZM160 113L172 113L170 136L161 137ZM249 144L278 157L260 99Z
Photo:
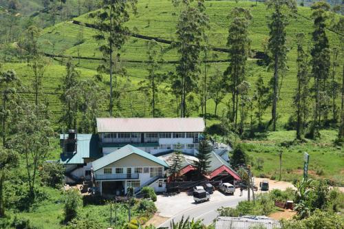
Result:
M234 195L224 195L215 190L211 195L210 201L200 204L196 204L193 201L193 196L187 193L180 193L174 196L159 195L155 202L159 215L170 218L160 226L169 227L172 220L179 221L183 216L184 218L202 219L204 224L208 225L217 217L217 208L236 206L239 201L247 199L247 192L245 190L242 197L239 195L239 188L235 190Z

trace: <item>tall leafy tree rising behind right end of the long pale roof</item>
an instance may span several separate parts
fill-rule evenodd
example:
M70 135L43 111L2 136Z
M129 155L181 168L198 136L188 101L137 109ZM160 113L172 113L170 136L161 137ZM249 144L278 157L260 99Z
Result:
M178 78L173 79L174 92L180 94L180 116L189 116L186 102L192 100L190 94L197 87L197 76L200 74L200 52L202 42L206 39L206 28L209 19L205 14L204 1L197 1L194 6L191 0L173 1L182 8L177 23L177 41L175 47L180 55L176 73Z

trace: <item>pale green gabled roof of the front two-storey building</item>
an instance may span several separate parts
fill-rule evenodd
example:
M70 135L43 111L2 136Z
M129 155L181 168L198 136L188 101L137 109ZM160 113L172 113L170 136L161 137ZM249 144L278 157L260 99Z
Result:
M100 168L103 168L107 166L108 164L114 163L118 160L121 160L123 157L127 157L131 155L132 153L135 153L137 155L140 155L141 157L144 157L148 160L151 160L155 163L161 164L162 166L168 168L169 166L164 162L163 160L160 160L158 157L155 157L149 153L146 153L134 146L131 146L127 144L126 146L109 153L108 155L105 155L104 157L100 157L98 160L95 160L92 162L92 166L94 171L99 170Z

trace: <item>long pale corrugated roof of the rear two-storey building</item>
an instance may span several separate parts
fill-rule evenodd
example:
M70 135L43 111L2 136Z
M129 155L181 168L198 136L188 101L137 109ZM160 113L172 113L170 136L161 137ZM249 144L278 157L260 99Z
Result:
M203 132L203 118L97 118L98 133Z

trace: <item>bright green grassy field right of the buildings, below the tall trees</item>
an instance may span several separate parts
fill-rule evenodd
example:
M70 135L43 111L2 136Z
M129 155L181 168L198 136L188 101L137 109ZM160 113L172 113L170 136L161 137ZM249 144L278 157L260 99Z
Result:
M310 154L309 175L314 179L330 179L338 186L344 186L344 152L332 143L336 131L321 131L321 140L281 147L281 142L294 140L295 131L267 133L266 137L250 140L248 155L255 176L279 178L279 152L282 151L282 179L293 181L303 176L303 153ZM257 158L264 160L263 169L257 169Z

